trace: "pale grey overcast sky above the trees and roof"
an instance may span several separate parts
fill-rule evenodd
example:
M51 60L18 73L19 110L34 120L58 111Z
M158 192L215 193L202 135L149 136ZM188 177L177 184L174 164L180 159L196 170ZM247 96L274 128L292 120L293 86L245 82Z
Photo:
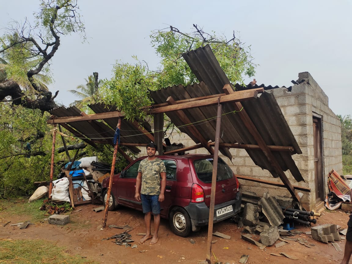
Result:
M80 0L78 4L88 41L82 43L77 35L62 37L51 62L55 83L50 90L60 91L57 102L65 106L77 100L67 90L84 84L93 71L101 79L110 78L116 60L134 63L131 56L136 55L155 69L152 30L172 25L190 32L198 24L228 38L233 30L240 32L259 64L257 84L288 87L298 73L309 71L328 96L332 111L352 115L351 1ZM38 7L39 0L2 1L0 35L10 20L31 20Z

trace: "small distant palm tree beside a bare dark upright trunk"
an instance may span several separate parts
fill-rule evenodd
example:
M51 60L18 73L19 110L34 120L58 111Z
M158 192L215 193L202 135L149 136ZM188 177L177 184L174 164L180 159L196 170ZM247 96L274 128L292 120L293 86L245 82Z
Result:
M69 90L70 93L78 96L81 100L75 100L73 103L70 103L70 106L76 106L77 108L82 108L89 103L96 103L99 98L99 87L102 84L102 80L98 81L98 86L94 84L94 76L89 75L86 84L80 84L76 87L76 90ZM81 90L79 92L78 90Z

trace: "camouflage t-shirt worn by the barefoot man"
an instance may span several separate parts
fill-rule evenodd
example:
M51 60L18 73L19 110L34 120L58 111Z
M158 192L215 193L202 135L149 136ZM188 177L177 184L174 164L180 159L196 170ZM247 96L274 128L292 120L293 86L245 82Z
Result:
M142 172L142 188L141 194L159 195L160 194L160 172L166 172L164 162L155 158L149 161L148 158L143 159L139 163L138 172Z

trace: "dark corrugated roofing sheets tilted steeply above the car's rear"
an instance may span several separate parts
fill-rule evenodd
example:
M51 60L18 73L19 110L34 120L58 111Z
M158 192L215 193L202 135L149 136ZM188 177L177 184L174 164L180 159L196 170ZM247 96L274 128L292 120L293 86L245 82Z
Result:
M223 93L222 88L224 85L230 84L230 81L208 45L187 52L183 54L183 57L201 83L187 87L178 85L152 92L151 96L156 103L164 103L169 96L172 96L175 100L183 100L205 95L221 94ZM266 145L292 146L294 148L294 152L291 153L287 151L273 151L273 154L283 171L289 169L296 181L303 181L303 177L291 157L291 155L296 153L301 154L302 151L283 117L274 95L264 92L257 99L243 101L242 105L263 137ZM184 110L205 139L213 142L215 140L216 108L216 106L207 106ZM222 107L220 143L256 145L257 142L251 132L247 130L243 121L239 115L235 114L234 110L231 103L226 103ZM188 131L187 124L183 124L175 113L168 112L167 115L182 132L187 133L196 143L199 142ZM275 169L262 150L246 151L256 165L262 169L269 170L274 177L278 177ZM225 148L222 148L221 152L223 154L224 152L226 153Z

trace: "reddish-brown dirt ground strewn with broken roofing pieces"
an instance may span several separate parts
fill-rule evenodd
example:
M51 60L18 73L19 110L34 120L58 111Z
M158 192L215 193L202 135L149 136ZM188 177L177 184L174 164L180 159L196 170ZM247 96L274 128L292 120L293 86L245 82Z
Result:
M117 211L109 212L107 219L108 225L130 225L134 228L130 231L132 239L137 244L137 248L116 245L111 240L101 240L120 234L123 230L119 228L106 228L100 230L103 222L104 211L94 212L93 209L100 205L81 205L77 206L79 210L70 215L70 223L64 226L48 224L48 222L39 222L29 225L26 229L19 229L17 226L10 226L18 222L27 220L27 216L18 216L9 218L2 215L2 221L10 224L5 227L0 225L0 238L5 239L45 239L54 241L57 245L67 248L70 254L80 254L89 257L100 263L108 264L142 264L142 263L199 263L206 259L207 248L207 227L202 228L199 232L192 233L187 238L178 237L169 228L168 220L162 219L159 230L159 241L155 245L150 245L149 241L139 244L142 237L138 233L144 230L144 215L141 212L129 208L120 208ZM80 210L81 209L81 210ZM322 216L318 217L317 223L312 226L322 224L337 224L341 230L347 228L348 212L341 210L323 211ZM153 224L153 223L152 223ZM310 231L309 227L296 226L296 231ZM301 245L297 241L289 241L288 245L276 248L274 246L266 247L260 250L259 247L241 239L241 231L231 220L226 220L214 224L213 231L218 231L231 236L231 239L224 239L213 235L212 240L217 240L212 244L212 251L222 263L239 263L243 254L249 255L248 264L252 263L339 263L343 257L345 246L344 236L341 241L336 241L342 251L337 251L329 243L321 243L312 239L311 235L305 233L296 235L295 238L304 238L309 244L315 244L312 248ZM259 240L259 236L252 237ZM190 243L190 239L195 241ZM280 242L279 240L277 242ZM142 251L142 252L141 252ZM144 251L144 252L143 252ZM270 253L285 252L295 256L298 260L292 260L284 256L273 256ZM215 263L212 257L212 263Z

